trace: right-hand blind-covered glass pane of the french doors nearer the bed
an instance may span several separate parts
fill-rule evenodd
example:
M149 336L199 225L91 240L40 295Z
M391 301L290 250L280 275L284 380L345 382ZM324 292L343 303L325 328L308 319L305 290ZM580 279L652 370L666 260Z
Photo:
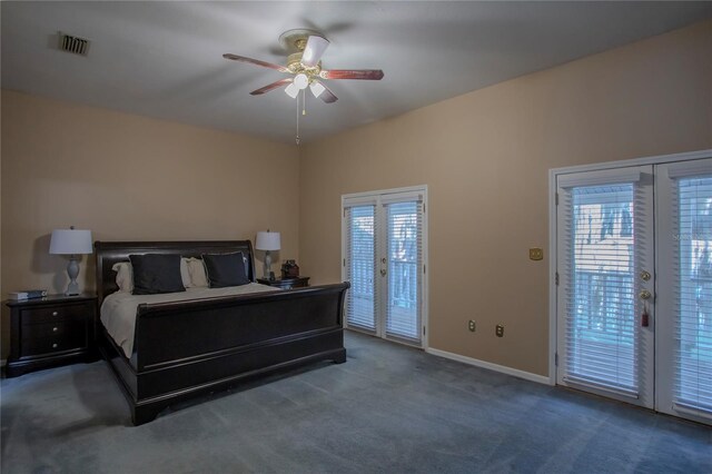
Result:
M388 300L386 334L421 340L421 203L386 206Z

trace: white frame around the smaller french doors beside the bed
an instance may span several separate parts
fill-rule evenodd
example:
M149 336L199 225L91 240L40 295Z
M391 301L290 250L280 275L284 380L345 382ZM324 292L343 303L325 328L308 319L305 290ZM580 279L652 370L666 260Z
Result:
M428 336L429 336L429 328L428 328L428 308L429 308L429 300L428 300L428 274L429 274L429 266L428 266L428 200L427 200L427 185L419 185L419 186L408 186L408 187L403 187L403 188L390 188L390 189L376 189L373 191L364 191L364 192L352 192L352 194L346 194L346 195L342 195L342 206L339 209L339 213L342 213L340 215L340 221L342 221L342 280L346 280L346 251L347 251L347 246L346 246L346 221L344 219L344 205L347 200L358 200L358 199L364 199L364 201L366 199L369 198L374 198L377 197L378 199L380 198L380 196L384 195L392 195L392 194L399 194L399 192L419 192L423 196L423 235L422 235L422 244L423 244L423 267L424 267L424 271L423 271L423 288L422 292L423 294L421 295L421 304L422 304L422 308L421 308L421 316L422 316L422 320L421 320L421 332L422 332L422 339L421 339L421 346L419 348L427 350L429 345L428 345ZM377 216L375 216L376 218L378 218ZM376 246L375 249L376 253L378 253L378 247ZM377 325L383 324L383 322L377 322ZM344 325L345 327L348 328L346 319L344 319ZM353 329L353 330L358 330L358 329ZM379 333L379 332L377 332ZM407 345L409 347L417 347L414 346L412 344L407 344L405 342L400 342L398 339L385 339L388 342L393 342L393 343L398 343L398 344L404 344Z

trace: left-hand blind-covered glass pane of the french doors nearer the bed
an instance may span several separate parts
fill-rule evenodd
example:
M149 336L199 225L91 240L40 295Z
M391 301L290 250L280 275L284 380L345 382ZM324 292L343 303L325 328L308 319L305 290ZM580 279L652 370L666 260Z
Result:
M346 294L346 320L348 326L375 332L375 206L350 207L347 213L347 279L352 287Z

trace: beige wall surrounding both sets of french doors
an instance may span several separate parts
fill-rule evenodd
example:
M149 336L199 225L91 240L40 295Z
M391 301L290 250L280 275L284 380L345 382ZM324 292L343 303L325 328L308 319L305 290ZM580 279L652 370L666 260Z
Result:
M548 169L712 148L710 58L708 21L305 147L304 274L340 277L343 194L425 184L431 347L546 375Z

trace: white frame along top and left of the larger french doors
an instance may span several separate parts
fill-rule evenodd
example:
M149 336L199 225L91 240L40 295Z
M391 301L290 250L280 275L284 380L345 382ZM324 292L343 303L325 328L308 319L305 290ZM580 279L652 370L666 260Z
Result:
M672 155L659 155L620 161L580 165L548 170L548 385L556 385L556 310L557 310L557 226L556 226L556 180L571 172L600 171L633 166L662 165L695 159L712 158L712 148ZM657 267L657 256L655 256Z

